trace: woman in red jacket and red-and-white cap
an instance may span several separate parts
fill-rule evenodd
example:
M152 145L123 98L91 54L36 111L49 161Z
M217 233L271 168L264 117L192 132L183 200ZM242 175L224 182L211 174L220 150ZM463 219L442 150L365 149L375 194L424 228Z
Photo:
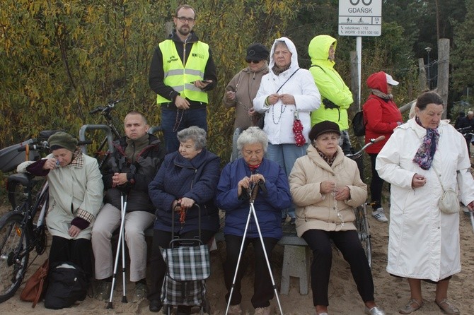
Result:
M402 114L393 102L392 88L394 85L398 85L398 81L393 80L391 75L383 71L371 74L367 78L367 86L371 89L371 94L362 107L366 124L365 143L368 143L371 138L385 136L385 140L374 143L366 149L370 155L372 169L370 183L372 216L379 222L388 222L388 219L381 203L383 179L378 177L375 170L375 160L383 145L392 135L393 129L403 124Z

